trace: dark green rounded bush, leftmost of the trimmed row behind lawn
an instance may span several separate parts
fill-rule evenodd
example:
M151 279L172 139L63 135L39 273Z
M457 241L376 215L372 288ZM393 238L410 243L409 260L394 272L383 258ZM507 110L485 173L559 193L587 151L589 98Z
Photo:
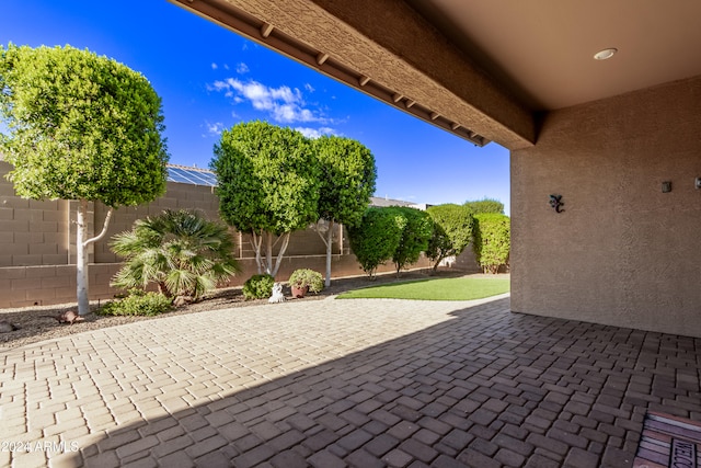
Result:
M390 208L369 207L358 226L348 227L350 249L360 267L374 277L377 267L392 258L405 219Z

